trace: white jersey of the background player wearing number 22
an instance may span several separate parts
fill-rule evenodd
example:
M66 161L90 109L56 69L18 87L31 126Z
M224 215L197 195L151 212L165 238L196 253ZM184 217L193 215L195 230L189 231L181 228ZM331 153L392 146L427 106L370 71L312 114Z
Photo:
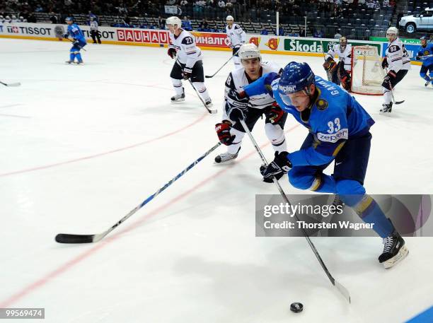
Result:
M192 69L196 61L202 59L202 51L197 45L195 45L195 37L186 30L182 30L182 33L176 37L172 33L170 35L169 48L176 49L176 59L180 64L185 64L185 67Z

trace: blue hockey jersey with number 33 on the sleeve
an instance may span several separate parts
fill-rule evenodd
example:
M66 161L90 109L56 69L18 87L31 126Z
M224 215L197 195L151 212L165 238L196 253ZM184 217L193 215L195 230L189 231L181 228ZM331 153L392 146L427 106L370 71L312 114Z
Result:
M311 147L287 156L293 166L330 163L345 141L364 136L374 124L374 120L352 95L320 76L316 76L317 95L313 104L299 112L282 101L278 91L279 78L279 74L265 74L243 90L248 96L269 93L284 111L293 115L313 134L315 141Z

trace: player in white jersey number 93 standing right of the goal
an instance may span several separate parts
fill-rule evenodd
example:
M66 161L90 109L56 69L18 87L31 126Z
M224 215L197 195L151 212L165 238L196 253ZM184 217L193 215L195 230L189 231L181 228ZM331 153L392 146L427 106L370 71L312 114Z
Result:
M410 58L405 49L405 45L398 38L398 29L390 27L386 30L386 38L388 39L388 48L383 57L382 68L387 71L383 78L383 105L381 113L391 113L393 107L393 95L391 90L403 80L410 69Z

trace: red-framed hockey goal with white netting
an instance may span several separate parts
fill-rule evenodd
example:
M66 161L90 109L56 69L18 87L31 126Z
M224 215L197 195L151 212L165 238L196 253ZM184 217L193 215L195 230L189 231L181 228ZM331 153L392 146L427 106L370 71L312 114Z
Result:
M375 46L352 47L352 92L366 95L382 95L385 76L381 57Z

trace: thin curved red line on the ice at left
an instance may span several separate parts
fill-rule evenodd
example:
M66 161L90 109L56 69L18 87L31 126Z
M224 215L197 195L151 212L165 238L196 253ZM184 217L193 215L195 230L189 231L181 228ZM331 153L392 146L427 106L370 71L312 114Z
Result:
M34 168L26 168L24 170L14 170L12 172L4 172L3 174L0 174L0 177L6 177L6 176L10 176L10 175L15 175L15 174L21 174L23 172L34 172L35 170L45 170L47 168L57 167L57 166L60 166L60 165L66 165L66 164L70 164L70 163L76 163L76 162L79 162L81 160L96 158L96 157L100 157L100 156L103 156L103 155L108 155L110 153L117 153L118 151L126 151L127 149L130 149L130 148L135 148L135 147L138 147L138 146L142 146L142 145L145 145L146 143L151 143L151 142L154 142L154 141L158 141L160 139L167 138L168 136L173 136L173 134L178 134L180 131L183 131L183 130L185 130L187 128L190 128L193 125L197 124L198 122L202 121L202 119L204 119L204 117L206 117L206 116L207 116L207 112L204 112L200 118L196 119L194 122L188 124L185 127L179 128L179 129L177 129L175 131L171 131L168 134L163 134L162 136L158 136L158 137L156 137L154 139L149 139L149 140L143 141L141 143L134 143L134 145L130 145L130 146L122 147L122 148L113 149L112 151L105 151L104 153L96 153L94 155L88 155L88 156L84 156L84 157L80 157L80 158L74 158L74 159L71 159L71 160L65 160L65 161L59 162L59 163L42 165L42 166L37 166L37 167L34 167Z

